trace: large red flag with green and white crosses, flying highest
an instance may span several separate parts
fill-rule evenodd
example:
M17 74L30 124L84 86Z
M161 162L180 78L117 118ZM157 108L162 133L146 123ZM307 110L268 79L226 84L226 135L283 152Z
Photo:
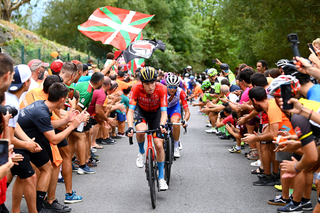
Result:
M105 6L97 8L78 30L94 41L124 50L154 16Z

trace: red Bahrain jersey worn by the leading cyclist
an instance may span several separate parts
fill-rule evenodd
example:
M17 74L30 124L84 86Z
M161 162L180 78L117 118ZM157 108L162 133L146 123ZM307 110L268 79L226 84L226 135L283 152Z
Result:
M167 111L167 87L159 82L156 82L153 94L146 93L141 82L133 85L130 94L129 109L135 110L138 102L141 109L147 112L154 112L159 107L161 111Z

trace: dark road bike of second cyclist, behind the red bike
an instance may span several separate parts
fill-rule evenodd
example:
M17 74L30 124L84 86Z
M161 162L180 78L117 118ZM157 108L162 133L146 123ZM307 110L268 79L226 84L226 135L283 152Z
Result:
M170 173L171 173L171 165L173 163L173 147L174 147L174 140L173 140L173 128L172 125L181 125L181 123L172 123L170 122L170 118L168 118L168 122L166 123L166 130L167 133L164 137L164 180L167 182L169 186L170 182ZM183 134L187 133L187 127L183 127Z

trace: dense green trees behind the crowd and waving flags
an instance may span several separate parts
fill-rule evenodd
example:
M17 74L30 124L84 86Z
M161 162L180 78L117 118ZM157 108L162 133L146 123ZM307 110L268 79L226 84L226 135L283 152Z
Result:
M90 14L114 6L156 16L143 29L144 39L162 40L166 51L157 50L146 65L166 71L182 71L191 65L196 72L217 68L219 58L235 70L240 63L255 67L260 59L269 67L292 58L286 36L297 33L300 53L308 57L307 43L319 33L317 0L49 0L37 32L47 39L104 58L115 49L95 42L77 30Z

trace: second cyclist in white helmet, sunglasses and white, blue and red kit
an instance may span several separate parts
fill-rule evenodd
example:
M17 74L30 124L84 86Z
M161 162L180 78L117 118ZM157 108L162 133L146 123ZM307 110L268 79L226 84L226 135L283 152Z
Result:
M167 76L165 83L167 85L168 90L168 118L170 116L171 122L179 123L181 114L180 114L180 100L182 103L182 107L185 111L185 119L181 121L183 126L188 126L188 119L190 117L190 111L188 108L187 95L186 93L179 87L180 78L176 75ZM182 149L181 143L179 141L180 136L180 125L173 125L173 140L174 140L174 153L173 156L178 158L180 157L179 148Z

